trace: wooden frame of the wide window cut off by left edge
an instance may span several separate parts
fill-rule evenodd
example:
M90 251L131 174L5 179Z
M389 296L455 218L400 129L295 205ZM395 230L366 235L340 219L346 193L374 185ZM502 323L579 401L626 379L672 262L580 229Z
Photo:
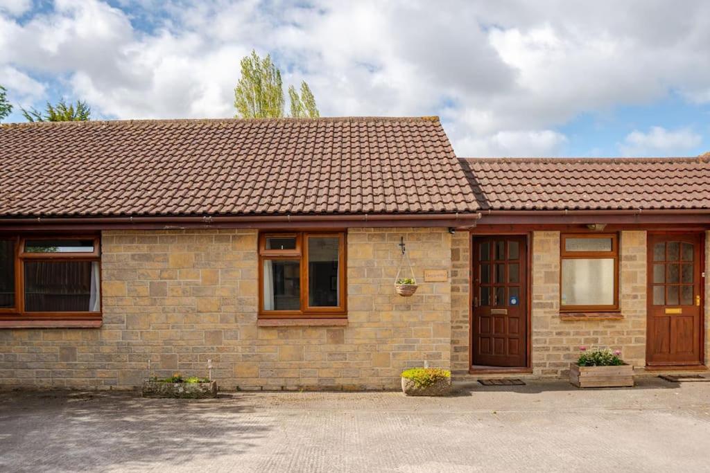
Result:
M0 308L2 321L101 321L103 314L101 278L101 238L99 235L2 235L0 240L15 242L15 306ZM93 252L33 253L25 251L27 240L92 240ZM25 262L26 261L88 261L99 263L99 311L26 311L25 310ZM40 326L40 325L33 325ZM0 325L1 327L1 325Z

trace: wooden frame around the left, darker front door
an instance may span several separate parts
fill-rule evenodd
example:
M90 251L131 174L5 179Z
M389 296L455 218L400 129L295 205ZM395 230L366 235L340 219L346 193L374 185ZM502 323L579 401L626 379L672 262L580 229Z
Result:
M473 369L474 362L474 237L476 236L523 236L525 237L525 366L494 367L491 369ZM469 231L469 374L486 373L531 373L532 372L532 232L515 230Z

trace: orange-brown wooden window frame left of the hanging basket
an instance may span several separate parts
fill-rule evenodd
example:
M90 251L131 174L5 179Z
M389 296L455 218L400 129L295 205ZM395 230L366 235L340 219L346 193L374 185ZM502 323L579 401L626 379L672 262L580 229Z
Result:
M266 250L268 237L296 237L296 250ZM338 279L340 290L340 305L333 307L312 307L308 305L308 238L311 237L337 237L338 248ZM344 230L317 230L302 232L268 232L261 233L258 240L258 317L270 318L347 318L347 293L346 293L346 238ZM266 260L295 260L300 262L300 306L298 311L266 311L263 308L263 264Z

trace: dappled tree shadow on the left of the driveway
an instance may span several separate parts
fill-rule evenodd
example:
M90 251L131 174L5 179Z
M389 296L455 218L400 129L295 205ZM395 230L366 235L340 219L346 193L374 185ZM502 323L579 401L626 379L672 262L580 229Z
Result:
M0 469L143 469L235 455L273 427L252 412L239 396L185 400L102 392L1 393Z

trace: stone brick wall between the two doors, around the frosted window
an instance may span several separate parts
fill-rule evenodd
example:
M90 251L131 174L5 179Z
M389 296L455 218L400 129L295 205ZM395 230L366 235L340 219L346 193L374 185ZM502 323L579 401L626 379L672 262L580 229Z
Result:
M559 232L532 235L532 369L541 376L566 376L579 347L621 350L645 365L646 233L623 231L620 240L617 321L562 321L559 317Z

